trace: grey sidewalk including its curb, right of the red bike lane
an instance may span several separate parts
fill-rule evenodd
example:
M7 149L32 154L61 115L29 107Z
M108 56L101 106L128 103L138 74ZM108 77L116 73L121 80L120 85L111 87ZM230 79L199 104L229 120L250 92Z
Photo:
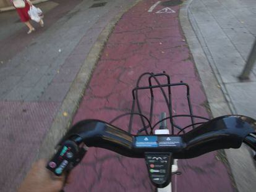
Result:
M255 119L256 69L249 81L237 78L255 41L255 1L190 0L180 19L213 116L243 114ZM255 189L252 153L242 146L226 154L237 190Z

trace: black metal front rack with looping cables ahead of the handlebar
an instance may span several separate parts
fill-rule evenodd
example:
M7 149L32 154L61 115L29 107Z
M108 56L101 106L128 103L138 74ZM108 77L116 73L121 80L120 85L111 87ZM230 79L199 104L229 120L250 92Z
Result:
M142 80L143 77L148 76L148 86L140 86L140 81ZM158 80L158 78L166 78L166 83L165 84L161 84L160 80ZM157 85L153 85L152 84L152 79L155 80ZM180 115L173 115L173 103L172 103L172 91L171 91L171 87L174 86L185 86L186 88L186 97L187 97L187 104L189 106L189 114L180 114ZM153 109L154 109L154 89L155 88L160 88L161 93L163 94L164 100L166 102L166 105L168 107L168 113L169 116L156 122L154 125L152 125L152 117L153 117ZM167 88L168 89L168 96L166 96L166 93L164 92L163 88ZM150 90L150 115L149 118L147 118L145 115L142 114L142 109L140 106L140 102L139 102L139 96L138 96L138 91L139 90ZM179 82L179 83L171 83L171 78L169 77L168 74L166 74L166 72L163 73L143 73L142 75L140 75L139 79L137 80L136 83L136 87L132 90L132 109L129 113L126 114L122 114L117 116L115 119L111 120L110 123L113 123L114 121L116 121L117 119L124 117L125 115L130 115L130 120L129 120L129 133L132 130L132 124L134 122L134 115L139 115L140 116L140 120L142 122L143 127L140 128L140 130L137 132L137 134L142 133L143 131L145 131L145 133L147 135L152 135L153 134L153 130L156 127L156 125L160 124L161 122L163 122L164 120L169 120L169 122L171 123L171 135L174 135L174 129L177 128L179 130L179 132L177 133L177 135L179 135L180 133L186 133L186 129L187 128L195 128L195 126L197 125L202 125L203 123L207 122L208 118L206 117L201 117L198 115L194 115L193 114L193 110L192 110L192 105L191 105L191 101L190 101L190 88L189 85L187 83L184 82ZM135 112L135 107L137 105L137 110L138 112ZM178 117L190 117L190 124L187 125L186 127L180 127L179 125L176 125L176 123L174 122L175 118ZM195 123L195 119L202 119L203 122L197 122ZM150 128L150 132L148 131L148 128Z

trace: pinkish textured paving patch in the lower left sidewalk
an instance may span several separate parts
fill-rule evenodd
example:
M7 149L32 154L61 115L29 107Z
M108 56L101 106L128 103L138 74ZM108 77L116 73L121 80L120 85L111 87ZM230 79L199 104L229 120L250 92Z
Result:
M59 102L0 101L0 191L17 191Z

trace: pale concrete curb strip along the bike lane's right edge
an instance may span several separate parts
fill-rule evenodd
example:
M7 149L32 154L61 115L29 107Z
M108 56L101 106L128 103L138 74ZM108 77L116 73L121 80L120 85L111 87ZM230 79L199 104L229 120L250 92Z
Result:
M226 95L226 91L221 86L220 75L216 74L214 65L211 64L209 57L205 53L205 49L201 44L203 42L202 36L196 33L197 24L189 14L189 6L193 0L186 0L182 4L179 12L179 20L181 22L182 30L186 36L187 43L189 45L190 52L194 58L195 66L197 68L198 75L202 81L202 85L207 95L208 104L213 117L221 115L233 114L233 106L229 103L229 97ZM228 97L228 98L227 98ZM249 151L247 147L242 145L239 149L225 149L224 156L228 161L221 161L226 163L231 169L231 179L233 185L237 191L248 191L250 187L248 182L245 182L245 178L248 178L247 173L255 170L254 163L248 162L250 159ZM246 170L245 170L246 167Z

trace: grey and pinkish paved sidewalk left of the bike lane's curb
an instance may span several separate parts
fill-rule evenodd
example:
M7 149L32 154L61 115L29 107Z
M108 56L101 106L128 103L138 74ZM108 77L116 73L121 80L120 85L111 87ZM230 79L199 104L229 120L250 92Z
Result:
M33 23L30 35L15 10L1 12L6 26L0 29L1 191L19 186L98 35L132 2L95 8L92 0L37 4L45 12L45 27Z

